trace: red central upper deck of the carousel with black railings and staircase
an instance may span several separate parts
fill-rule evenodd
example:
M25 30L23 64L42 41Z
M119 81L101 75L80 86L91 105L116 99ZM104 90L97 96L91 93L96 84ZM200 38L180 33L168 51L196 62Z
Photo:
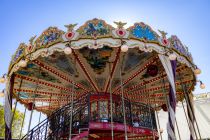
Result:
M124 121L120 97L113 96L112 104L113 122L110 117L109 95L84 96L73 102L72 116L72 103L69 103L48 116L22 139L67 140L71 137L72 140L109 140L114 137L123 140L126 135L128 139L158 139L154 110L150 106L125 100Z

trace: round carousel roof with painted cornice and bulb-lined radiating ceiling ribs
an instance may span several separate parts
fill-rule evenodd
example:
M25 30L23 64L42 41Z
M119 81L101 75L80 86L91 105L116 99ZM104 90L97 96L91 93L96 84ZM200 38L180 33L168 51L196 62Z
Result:
M72 93L77 99L88 93L121 94L121 89L133 102L161 106L169 82L158 54L172 52L178 61L177 100L182 99L181 85L191 93L195 65L177 36L166 38L163 31L158 35L142 22L127 29L126 23L115 24L117 28L93 19L78 29L76 24L66 25L67 31L49 27L28 44L21 43L8 72L14 77L8 84L13 97L25 105L34 102L36 110L47 114L67 104ZM128 46L127 52L122 45Z

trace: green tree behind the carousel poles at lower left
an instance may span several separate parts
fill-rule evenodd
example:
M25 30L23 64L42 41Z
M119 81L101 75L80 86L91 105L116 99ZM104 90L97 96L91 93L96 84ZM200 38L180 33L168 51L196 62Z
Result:
M23 122L23 113L16 109L12 123L12 138L19 138L21 124ZM4 106L0 105L0 137L4 137L5 122L4 122Z

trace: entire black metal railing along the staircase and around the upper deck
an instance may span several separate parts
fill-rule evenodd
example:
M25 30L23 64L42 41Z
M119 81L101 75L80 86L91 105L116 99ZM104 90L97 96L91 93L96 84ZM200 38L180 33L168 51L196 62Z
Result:
M111 122L110 110L106 117L100 115L100 110L93 112L91 104L100 104L102 100L90 101L91 95L86 95L71 103L59 108L53 112L49 117L35 126L22 139L25 140L48 140L48 139L69 139L71 130L71 137L77 136L81 130L88 129L89 122ZM96 96L96 95L94 95ZM100 96L100 95L98 95ZM120 97L119 97L120 98ZM152 107L143 103L134 103L125 100L125 112L127 125L132 127L143 127L151 130L157 130L155 112ZM122 102L119 99L114 99L113 104L113 122L123 123ZM107 104L108 108L109 104ZM100 108L98 108L100 109ZM72 122L70 122L71 111L73 110ZM70 123L72 128L70 129Z

